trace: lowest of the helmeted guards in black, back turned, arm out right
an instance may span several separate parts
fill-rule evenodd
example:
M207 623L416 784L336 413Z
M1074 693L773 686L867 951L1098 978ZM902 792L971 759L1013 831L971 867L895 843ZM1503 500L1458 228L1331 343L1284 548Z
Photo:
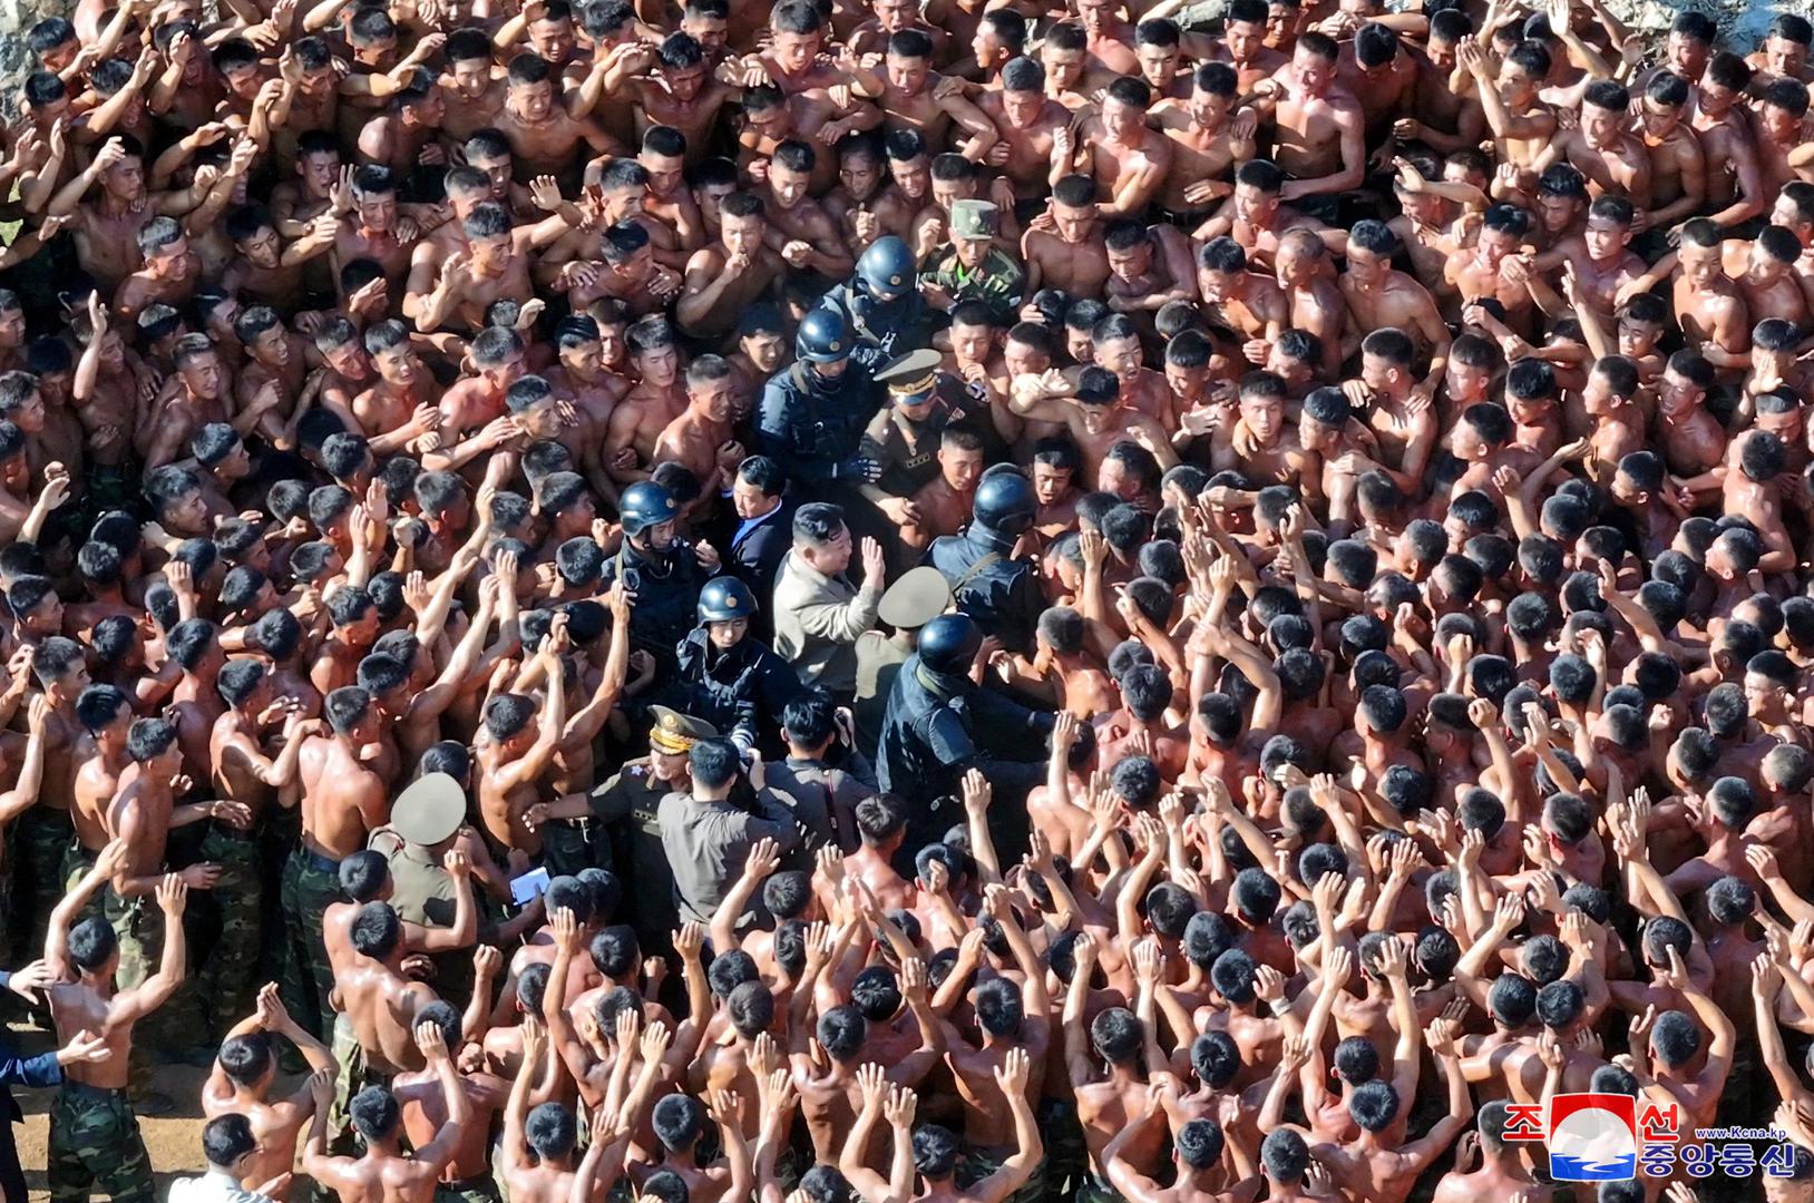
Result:
M965 613L943 613L920 628L882 717L876 782L914 800L960 793L965 771L981 769L998 797L1025 797L1045 777L1052 715L1027 709L970 680L983 631ZM1023 758L1025 757L1025 758ZM947 807L918 804L907 820L907 847L940 838L954 822Z

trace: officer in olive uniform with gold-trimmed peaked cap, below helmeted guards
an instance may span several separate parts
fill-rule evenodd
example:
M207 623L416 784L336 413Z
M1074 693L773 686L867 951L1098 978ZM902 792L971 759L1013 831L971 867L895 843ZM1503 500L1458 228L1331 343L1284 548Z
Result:
M593 813L613 835L613 862L622 867L628 891L628 920L646 954L666 949L678 927L675 873L662 847L657 809L675 789L688 789L688 753L702 738L718 733L709 722L691 719L668 706L649 706L649 755L626 760L624 768L593 789Z

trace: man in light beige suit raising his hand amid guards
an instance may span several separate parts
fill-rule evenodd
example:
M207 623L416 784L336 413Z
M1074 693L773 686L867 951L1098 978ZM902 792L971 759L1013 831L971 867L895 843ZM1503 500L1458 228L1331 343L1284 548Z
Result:
M856 637L876 624L882 604L882 544L863 539L863 584L856 588L845 577L853 543L844 510L800 506L793 535L775 575L775 651L802 682L847 699L856 691Z

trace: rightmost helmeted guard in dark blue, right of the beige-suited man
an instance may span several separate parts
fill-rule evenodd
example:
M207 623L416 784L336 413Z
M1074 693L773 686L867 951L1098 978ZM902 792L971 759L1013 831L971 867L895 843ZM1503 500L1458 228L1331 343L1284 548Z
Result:
M934 539L927 552L927 562L951 584L958 610L976 619L985 635L1023 655L1032 653L1045 595L1039 566L1030 555L1016 557L1016 543L1038 510L1032 483L1019 468L990 468L976 486L969 528Z

